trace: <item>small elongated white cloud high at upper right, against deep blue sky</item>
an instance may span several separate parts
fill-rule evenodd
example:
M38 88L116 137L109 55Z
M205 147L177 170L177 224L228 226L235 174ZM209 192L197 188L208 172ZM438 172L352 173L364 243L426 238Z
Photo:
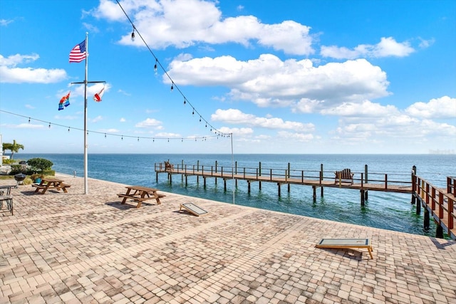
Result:
M405 41L398 43L393 37L382 37L380 42L371 44L361 44L353 49L338 46L321 46L321 56L336 59L356 59L356 58L381 58L381 57L405 57L415 51L410 43Z

